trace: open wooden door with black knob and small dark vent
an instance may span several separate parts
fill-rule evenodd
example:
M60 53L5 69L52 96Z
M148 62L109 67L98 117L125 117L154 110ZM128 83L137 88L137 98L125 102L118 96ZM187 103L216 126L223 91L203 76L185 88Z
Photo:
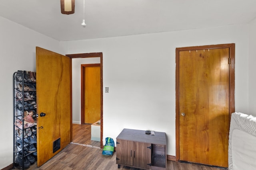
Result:
M71 141L70 63L69 57L36 47L37 166Z

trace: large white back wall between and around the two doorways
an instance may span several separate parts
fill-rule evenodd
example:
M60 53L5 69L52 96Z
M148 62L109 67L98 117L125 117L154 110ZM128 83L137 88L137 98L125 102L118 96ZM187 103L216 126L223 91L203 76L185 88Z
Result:
M248 112L248 26L230 25L83 41L63 41L67 54L103 53L103 139L123 128L166 132L175 152L175 49L236 43L235 107Z

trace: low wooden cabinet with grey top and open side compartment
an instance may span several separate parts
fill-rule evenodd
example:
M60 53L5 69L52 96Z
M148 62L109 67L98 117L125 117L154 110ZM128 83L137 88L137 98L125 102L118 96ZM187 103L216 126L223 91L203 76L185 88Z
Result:
M166 170L166 135L123 129L116 138L116 164L149 170Z

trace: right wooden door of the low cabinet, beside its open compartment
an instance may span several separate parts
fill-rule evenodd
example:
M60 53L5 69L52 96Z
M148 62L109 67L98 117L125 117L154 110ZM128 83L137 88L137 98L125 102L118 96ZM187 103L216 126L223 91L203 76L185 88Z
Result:
M133 166L139 168L150 169L151 165L151 144L134 142L133 145L134 164Z

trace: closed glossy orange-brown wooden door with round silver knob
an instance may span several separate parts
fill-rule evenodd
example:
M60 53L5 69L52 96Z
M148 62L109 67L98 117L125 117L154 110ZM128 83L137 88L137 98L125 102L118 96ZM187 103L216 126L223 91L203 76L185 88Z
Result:
M180 160L228 167L230 111L234 109L230 61L230 48L179 51Z

